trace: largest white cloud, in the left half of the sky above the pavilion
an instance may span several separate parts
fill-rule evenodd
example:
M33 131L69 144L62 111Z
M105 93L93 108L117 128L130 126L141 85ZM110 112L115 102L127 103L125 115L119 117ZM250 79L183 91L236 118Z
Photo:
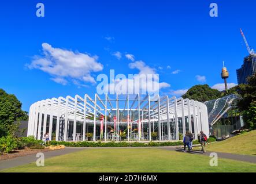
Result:
M97 62L98 56L53 48L47 43L43 43L42 47L43 56L34 56L28 68L42 70L53 76L51 80L62 85L66 85L68 79L95 83L91 72L103 70L103 65Z

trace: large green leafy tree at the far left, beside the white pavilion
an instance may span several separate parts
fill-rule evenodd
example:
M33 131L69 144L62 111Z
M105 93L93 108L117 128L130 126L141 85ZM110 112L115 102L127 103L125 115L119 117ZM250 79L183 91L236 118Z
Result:
M0 89L0 136L12 132L14 121L28 120L28 114L21 110L21 105L15 95Z

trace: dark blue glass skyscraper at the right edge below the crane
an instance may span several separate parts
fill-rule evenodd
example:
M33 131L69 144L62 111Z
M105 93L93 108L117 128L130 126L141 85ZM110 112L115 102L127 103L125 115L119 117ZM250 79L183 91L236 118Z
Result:
M238 84L247 84L248 76L253 76L256 73L256 54L252 53L244 58L241 68L236 70Z

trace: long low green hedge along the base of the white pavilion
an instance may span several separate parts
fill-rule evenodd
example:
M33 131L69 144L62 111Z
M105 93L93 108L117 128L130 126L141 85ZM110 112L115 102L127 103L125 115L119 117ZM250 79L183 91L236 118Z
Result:
M216 139L210 137L208 139L209 143L216 141ZM194 140L193 144L199 144L198 140ZM93 142L93 141L81 141L81 142L66 142L66 141L50 141L50 145L65 145L66 147L165 147L165 146L175 146L175 145L183 145L182 141L175 142L153 142L149 143L128 143L125 141L121 142Z

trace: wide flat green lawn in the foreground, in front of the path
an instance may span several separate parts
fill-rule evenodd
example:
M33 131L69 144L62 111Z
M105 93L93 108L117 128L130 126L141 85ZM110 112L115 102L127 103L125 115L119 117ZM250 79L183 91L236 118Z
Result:
M4 172L256 172L256 164L211 158L159 148L97 148L46 159L44 167L35 163Z

